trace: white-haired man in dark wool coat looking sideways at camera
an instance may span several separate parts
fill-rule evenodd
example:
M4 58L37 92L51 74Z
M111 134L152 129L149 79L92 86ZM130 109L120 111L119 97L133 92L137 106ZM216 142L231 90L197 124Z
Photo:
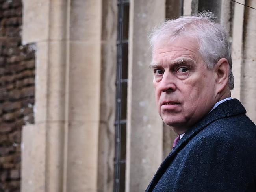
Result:
M158 113L179 136L147 192L256 191L256 126L234 87L229 43L212 13L151 35Z

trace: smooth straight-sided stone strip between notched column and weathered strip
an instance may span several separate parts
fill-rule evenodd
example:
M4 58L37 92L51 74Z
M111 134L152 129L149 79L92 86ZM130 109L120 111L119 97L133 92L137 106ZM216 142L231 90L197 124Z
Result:
M97 190L101 11L101 0L70 1L67 192Z

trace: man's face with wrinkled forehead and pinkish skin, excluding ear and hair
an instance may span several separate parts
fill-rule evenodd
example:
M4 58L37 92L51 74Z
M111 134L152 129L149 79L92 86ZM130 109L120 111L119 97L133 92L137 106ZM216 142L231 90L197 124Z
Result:
M207 69L195 39L158 43L153 51L151 68L158 113L167 125L181 134L217 102L216 74Z

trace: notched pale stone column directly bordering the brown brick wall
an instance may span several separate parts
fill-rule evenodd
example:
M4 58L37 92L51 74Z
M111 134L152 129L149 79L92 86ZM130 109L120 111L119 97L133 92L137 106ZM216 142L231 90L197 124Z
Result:
M22 192L63 190L65 0L23 1L23 44L36 44L35 124L22 130ZM58 24L57 24L58 23Z

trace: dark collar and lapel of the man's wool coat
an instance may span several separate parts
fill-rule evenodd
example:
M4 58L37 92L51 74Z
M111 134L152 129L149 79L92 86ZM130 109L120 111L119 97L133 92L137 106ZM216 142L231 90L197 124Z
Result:
M156 174L154 175L152 181L148 185L146 192L151 192L162 174L169 167L170 162L173 161L174 157L186 144L199 133L206 126L214 122L215 120L225 118L228 116L235 116L238 114L245 114L246 110L243 105L237 99L227 100L220 105L218 105L213 111L208 113L204 118L202 118L199 122L197 122L194 126L192 126L186 134L182 137L182 139L178 142L177 146L169 153L166 159L163 161L161 166L158 168Z

